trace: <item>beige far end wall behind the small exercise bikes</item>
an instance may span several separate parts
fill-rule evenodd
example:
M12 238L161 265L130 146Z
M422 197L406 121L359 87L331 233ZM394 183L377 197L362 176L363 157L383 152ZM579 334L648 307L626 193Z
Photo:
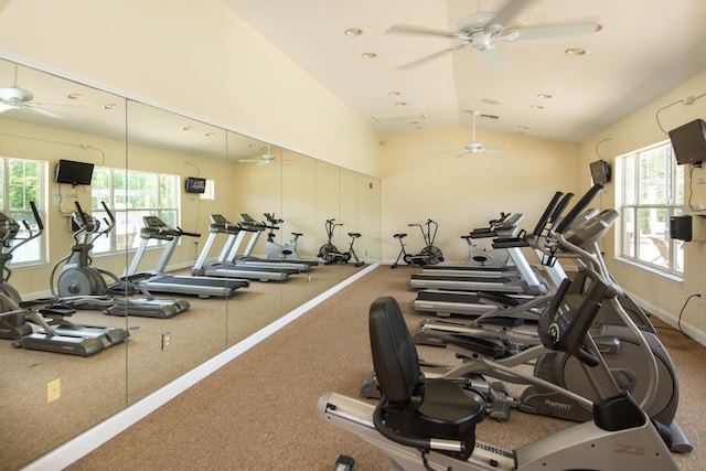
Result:
M431 218L439 223L435 245L447 260L463 263L462 234L501 212L524 213L521 226L532 231L556 191L578 188L578 144L482 130L477 140L510 147L500 154L457 157L470 141L466 128L383 137L384 260L394 261L399 253L395 233L407 233L407 249L419 253L421 233L407 224Z

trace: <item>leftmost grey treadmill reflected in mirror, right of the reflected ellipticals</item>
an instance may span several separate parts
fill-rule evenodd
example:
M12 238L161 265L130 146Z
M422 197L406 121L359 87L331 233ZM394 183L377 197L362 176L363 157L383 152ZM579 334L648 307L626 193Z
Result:
M238 288L247 288L250 282L242 278L210 278L168 275L164 270L172 257L182 235L201 237L201 234L186 233L181 228L169 227L157 216L142 216L145 227L140 229L140 245L132 257L132 263L124 275L128 281L137 282L148 291L194 295L200 298L212 296L229 297ZM154 270L137 272L137 268L145 255L150 240L167 240L162 255L157 261Z

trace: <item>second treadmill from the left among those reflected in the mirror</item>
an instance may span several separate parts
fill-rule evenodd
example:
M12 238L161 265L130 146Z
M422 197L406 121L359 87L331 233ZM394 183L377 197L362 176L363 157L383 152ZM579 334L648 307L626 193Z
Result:
M201 249L196 263L191 268L191 272L196 276L233 277L259 281L284 281L290 275L299 272L299 269L288 269L279 264L255 266L233 261L231 254L237 250L237 245L245 236L245 233L238 224L232 224L223 215L212 214L211 224L208 225L208 238ZM220 234L227 236L226 243L216 261L207 263L208 253Z

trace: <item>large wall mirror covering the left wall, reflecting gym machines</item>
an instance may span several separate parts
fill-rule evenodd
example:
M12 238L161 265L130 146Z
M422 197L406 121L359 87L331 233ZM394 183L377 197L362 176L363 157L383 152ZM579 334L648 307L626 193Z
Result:
M379 179L2 60L0 97L0 212L6 223L18 223L17 231L9 223L0 227L2 258L12 255L4 296L14 296L8 283L22 300L103 291L95 272L64 268L72 255L89 255L78 261L99 268L106 286L109 274L139 275L108 297L95 292L93 304L77 303L64 318L105 329L96 339L115 333L113 343L87 356L22 345L22 338L42 334L41 325L3 303L0 454L9 469L362 269L353 260L324 264L322 246L347 251L349 234L360 233L359 259L368 265L381 257ZM92 165L92 183L57 183L60 162ZM43 226L38 237L30 201ZM329 220L341 224L332 234ZM279 278L231 267L254 258L269 259L259 260L270 264L264 271ZM216 288L170 292L159 282L142 283L160 270L185 286L217 280ZM116 332L129 338L121 341Z

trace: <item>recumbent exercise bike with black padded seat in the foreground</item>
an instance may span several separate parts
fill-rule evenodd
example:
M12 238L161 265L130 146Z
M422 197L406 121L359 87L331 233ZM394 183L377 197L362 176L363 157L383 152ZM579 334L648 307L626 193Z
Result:
M576 214L557 228L563 248L590 254L564 238ZM384 297L371 306L371 349L375 372L381 381L382 399L377 406L335 393L319 399L320 418L346 429L385 452L395 470L548 470L548 469L660 469L677 470L668 445L671 429L651 420L644 407L656 394L657 364L650 344L633 319L617 300L619 289L592 264L574 280L565 279L544 310L537 325L541 344L521 355L570 354L587 376L592 398L581 397L563 386L525 374L514 366L523 357L474 356L483 370L511 375L527 384L539 385L571 397L593 410L592 420L560 430L517 449L503 449L478 441L475 425L485 414L484 399L458 383L459 376L426 378L420 371L414 340L399 306ZM650 385L638 403L620 386L620 373L612 371L602 349L590 332L602 303L613 304L617 314L634 334ZM463 340L449 335L449 347L463 353ZM457 350L458 347L458 350ZM525 356L525 357L526 357Z

